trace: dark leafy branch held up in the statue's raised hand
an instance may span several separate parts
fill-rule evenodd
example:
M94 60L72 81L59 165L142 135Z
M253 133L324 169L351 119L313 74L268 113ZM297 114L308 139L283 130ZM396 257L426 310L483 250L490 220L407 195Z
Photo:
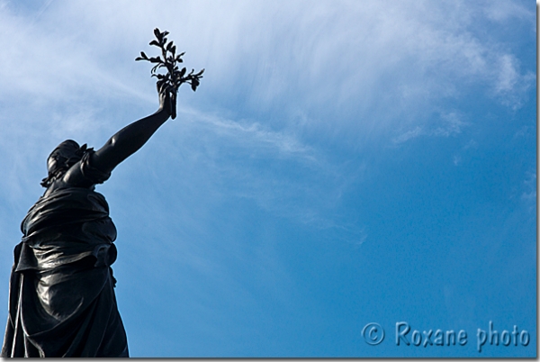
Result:
M163 86L168 86L172 93L172 102L173 102L173 114L171 115L173 119L176 117L176 93L178 88L183 83L188 83L191 85L193 92L197 90L197 86L201 84L200 79L202 78L202 69L199 73L195 73L195 69L192 69L191 72L185 74L187 69L184 67L180 69L178 67L179 63L183 63L184 60L182 57L185 52L176 55L176 46L173 41L166 41L166 35L169 32L160 32L159 29L154 29L154 35L156 35L156 40L150 41L149 45L155 45L161 50L161 59L160 56L150 57L145 54L144 51L140 52L140 57L137 57L135 60L148 60L150 63L156 64L150 73L151 77L157 77L157 88L161 89ZM159 68L166 68L166 74L157 73Z

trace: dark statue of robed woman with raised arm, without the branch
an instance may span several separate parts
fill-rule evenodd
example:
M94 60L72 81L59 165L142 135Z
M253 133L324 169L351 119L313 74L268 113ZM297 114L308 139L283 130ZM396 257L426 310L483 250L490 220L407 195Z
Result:
M1 357L129 357L111 265L116 228L94 191L173 113L170 89L159 109L96 151L66 140L52 151L44 195L24 218L14 249Z

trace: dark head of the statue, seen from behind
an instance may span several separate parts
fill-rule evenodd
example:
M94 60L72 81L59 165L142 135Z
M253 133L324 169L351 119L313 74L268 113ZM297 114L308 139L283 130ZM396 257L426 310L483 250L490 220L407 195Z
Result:
M58 178L83 157L85 149L86 145L80 147L75 140L64 140L60 143L47 158L49 176L43 178L41 186L49 187L55 178Z

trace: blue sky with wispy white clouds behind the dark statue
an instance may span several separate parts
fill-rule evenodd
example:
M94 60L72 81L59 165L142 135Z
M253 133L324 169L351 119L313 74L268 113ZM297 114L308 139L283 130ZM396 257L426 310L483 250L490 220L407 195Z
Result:
M206 71L97 188L131 356L536 356L531 1L0 0L0 305L49 152L157 109L155 27Z

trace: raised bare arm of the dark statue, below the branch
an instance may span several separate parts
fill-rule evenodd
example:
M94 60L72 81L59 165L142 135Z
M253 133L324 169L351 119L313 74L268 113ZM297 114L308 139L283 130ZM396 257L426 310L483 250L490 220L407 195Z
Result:
M92 167L104 173L111 172L124 159L138 151L154 132L166 122L172 113L173 106L169 89L166 87L159 89L159 109L157 112L139 121L132 122L116 132L101 149L96 150L91 155ZM71 186L89 186L86 185L88 180L81 173L79 162L67 170L63 182Z

